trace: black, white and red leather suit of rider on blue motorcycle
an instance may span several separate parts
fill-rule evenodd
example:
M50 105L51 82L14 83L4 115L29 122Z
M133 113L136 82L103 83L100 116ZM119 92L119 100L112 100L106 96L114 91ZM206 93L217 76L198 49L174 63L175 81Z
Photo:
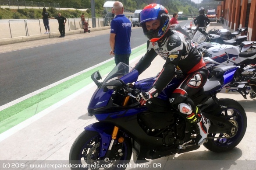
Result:
M153 84L156 90L162 91L181 70L186 76L180 86L171 95L171 104L178 110L178 105L185 102L195 108L189 96L196 94L206 83L208 70L202 56L199 55L192 41L178 31L169 30L160 42L149 42L146 54L136 64L135 69L141 74L153 59L161 56L166 60L162 71Z

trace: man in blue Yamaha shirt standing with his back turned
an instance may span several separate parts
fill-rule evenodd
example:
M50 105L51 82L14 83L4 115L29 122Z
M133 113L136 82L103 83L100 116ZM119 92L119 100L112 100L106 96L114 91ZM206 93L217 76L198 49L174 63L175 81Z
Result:
M110 55L114 55L116 65L124 62L129 65L131 55L130 37L132 32L132 22L124 16L123 4L116 1L113 4L115 18L110 26Z

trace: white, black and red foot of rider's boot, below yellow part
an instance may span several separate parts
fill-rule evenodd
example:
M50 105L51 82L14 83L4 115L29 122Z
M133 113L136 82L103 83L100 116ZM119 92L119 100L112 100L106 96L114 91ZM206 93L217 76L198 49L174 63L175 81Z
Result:
M202 145L204 142L206 142L206 138L208 135L208 130L210 127L210 121L209 119L205 118L202 114L202 119L199 123L196 124L196 144Z

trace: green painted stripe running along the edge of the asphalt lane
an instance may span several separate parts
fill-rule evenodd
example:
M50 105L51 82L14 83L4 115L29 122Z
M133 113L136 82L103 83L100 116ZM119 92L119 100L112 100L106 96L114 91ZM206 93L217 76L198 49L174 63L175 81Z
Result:
M130 60L135 59L145 52L146 44L132 50ZM95 71L99 70L102 75L106 75L114 66L114 60L111 60L97 68L91 69L86 73L0 111L0 134L92 83L91 75Z

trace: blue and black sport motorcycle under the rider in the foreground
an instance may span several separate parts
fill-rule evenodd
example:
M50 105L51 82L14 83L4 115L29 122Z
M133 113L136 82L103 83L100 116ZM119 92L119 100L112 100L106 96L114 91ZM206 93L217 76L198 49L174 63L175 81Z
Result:
M247 118L235 100L216 97L233 80L238 69L225 66L213 70L213 76L192 97L203 115L210 120L207 142L213 152L233 149L245 135ZM99 72L92 74L97 89L88 107L89 116L98 122L86 126L71 146L71 169L125 169L131 156L145 163L175 153L196 150L196 127L171 108L170 94L181 80L174 77L158 97L141 106L135 96L152 87L156 77L137 81L136 69L119 63L103 82Z

